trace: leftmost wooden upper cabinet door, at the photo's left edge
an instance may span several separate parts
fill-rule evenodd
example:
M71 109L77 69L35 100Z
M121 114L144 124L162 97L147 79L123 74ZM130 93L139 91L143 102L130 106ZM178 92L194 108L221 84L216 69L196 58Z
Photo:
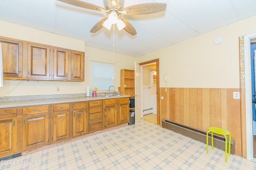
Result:
M22 77L22 41L0 38L4 78Z

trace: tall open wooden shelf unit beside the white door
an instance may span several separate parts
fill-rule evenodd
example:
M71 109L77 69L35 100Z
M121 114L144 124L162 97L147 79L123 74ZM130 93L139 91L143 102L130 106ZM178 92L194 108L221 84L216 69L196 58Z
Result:
M134 70L122 69L120 81L120 94L126 94L134 97Z

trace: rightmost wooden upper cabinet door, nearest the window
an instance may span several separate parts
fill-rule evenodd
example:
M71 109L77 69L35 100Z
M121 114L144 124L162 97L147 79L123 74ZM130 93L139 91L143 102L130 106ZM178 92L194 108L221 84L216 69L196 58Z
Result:
M84 53L71 52L71 80L84 81Z

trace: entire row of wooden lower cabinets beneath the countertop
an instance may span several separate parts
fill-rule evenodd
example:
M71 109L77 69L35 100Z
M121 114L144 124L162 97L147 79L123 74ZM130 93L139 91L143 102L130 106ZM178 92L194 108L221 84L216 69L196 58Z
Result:
M129 98L0 109L0 158L129 123Z

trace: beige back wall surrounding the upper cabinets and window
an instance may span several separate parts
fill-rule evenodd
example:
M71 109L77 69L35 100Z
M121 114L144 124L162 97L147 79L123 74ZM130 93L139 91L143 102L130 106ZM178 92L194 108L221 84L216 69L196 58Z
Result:
M84 82L64 82L64 81L40 81L26 82L20 80L4 80L4 87L0 88L0 96L25 96L25 95L45 95L45 94L76 94L86 93L86 86L90 84L89 69L90 60L113 63L113 54L107 51L86 47L84 41L72 39L54 33L48 33L0 21L0 36L31 41L85 52L85 81ZM120 86L120 69L134 69L136 58L115 54L116 82L115 87ZM60 92L56 92L56 86L60 86Z

